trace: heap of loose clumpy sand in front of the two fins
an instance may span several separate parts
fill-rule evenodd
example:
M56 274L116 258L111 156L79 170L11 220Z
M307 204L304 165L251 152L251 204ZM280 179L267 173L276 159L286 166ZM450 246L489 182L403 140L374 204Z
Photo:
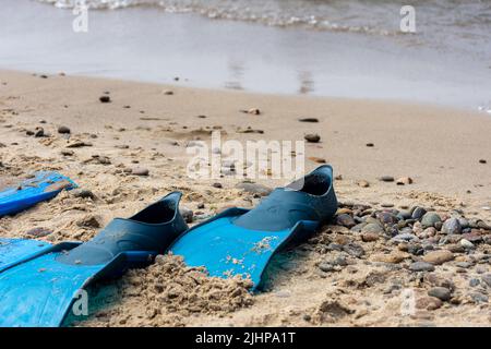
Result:
M251 286L249 279L208 277L180 256L159 255L148 268L123 277L118 302L77 325L182 326L193 314L223 316L252 305Z

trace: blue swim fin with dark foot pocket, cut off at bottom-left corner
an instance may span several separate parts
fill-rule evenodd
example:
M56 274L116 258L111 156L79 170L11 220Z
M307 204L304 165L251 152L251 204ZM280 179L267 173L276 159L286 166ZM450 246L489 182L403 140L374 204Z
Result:
M36 251L24 240L31 254L4 263L0 272L0 327L60 326L88 284L152 263L188 229L180 197L173 192L129 219L116 218L85 243Z

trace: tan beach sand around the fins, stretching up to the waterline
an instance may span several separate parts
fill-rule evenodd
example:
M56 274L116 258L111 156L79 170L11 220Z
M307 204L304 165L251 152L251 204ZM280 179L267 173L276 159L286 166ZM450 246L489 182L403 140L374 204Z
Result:
M130 216L172 190L183 192L182 205L194 212L195 221L230 205L254 206L258 198L236 189L237 179L203 181L187 176L185 145L208 140L213 129L221 129L225 140L240 141L302 140L307 133L319 133L321 142L308 143L306 157L325 159L335 174L342 174L335 188L350 214L356 208L348 202L369 204L372 209L381 209L381 204L422 205L442 215L460 209L468 218L491 221L489 116L403 103L254 95L178 84L0 72L0 176L58 170L94 194L91 198L81 197L80 191L63 192L15 217L3 217L0 236L85 241L115 216ZM110 96L111 103L100 103L103 95ZM250 108L261 113L240 111ZM320 122L298 121L307 117ZM60 125L69 127L71 134L59 134ZM39 127L47 136L27 135ZM263 133L237 132L249 127ZM307 160L308 169L315 166ZM135 168L148 169L149 176L128 173ZM381 176L411 177L414 183L382 182ZM370 186L358 185L361 180ZM217 181L223 188L212 185ZM334 251L328 248L332 243L344 248ZM356 253L360 245L361 256ZM490 288L483 281L474 287L469 282L489 274L490 252L487 243L472 253L456 250L455 261L436 266L435 272L412 273L407 266L419 257L404 246L384 239L367 242L360 233L333 225L277 256L263 293L250 297L243 292L246 281L211 279L177 260L159 257L147 269L112 282L115 301L77 325L489 326L489 303L476 301L472 292L487 296ZM333 272L319 269L334 260ZM464 272L457 265L463 262L470 264ZM169 268L169 263L175 266ZM180 308L172 297L168 299L167 282L175 280L175 289L187 290L188 273L197 273L202 285ZM427 291L442 285L452 289L453 299L436 306ZM414 290L418 311L403 316L406 289ZM182 297L172 292L177 299ZM216 297L223 302L215 302Z

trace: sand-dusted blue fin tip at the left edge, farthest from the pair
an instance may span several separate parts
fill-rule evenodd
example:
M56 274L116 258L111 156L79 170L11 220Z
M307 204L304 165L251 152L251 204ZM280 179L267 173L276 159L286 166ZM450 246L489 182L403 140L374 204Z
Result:
M0 217L22 212L41 201L55 197L63 189L73 188L76 188L76 184L60 173L36 172L33 178L0 189Z

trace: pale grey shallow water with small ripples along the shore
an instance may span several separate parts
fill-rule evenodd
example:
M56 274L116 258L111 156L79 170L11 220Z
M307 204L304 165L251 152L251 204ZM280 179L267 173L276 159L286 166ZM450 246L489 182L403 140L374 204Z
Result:
M88 10L88 33L74 33L71 10L3 0L0 68L158 83L179 76L179 84L199 87L482 110L491 105L489 2L409 1L416 34L400 33L400 4L391 1L87 2L124 9Z

